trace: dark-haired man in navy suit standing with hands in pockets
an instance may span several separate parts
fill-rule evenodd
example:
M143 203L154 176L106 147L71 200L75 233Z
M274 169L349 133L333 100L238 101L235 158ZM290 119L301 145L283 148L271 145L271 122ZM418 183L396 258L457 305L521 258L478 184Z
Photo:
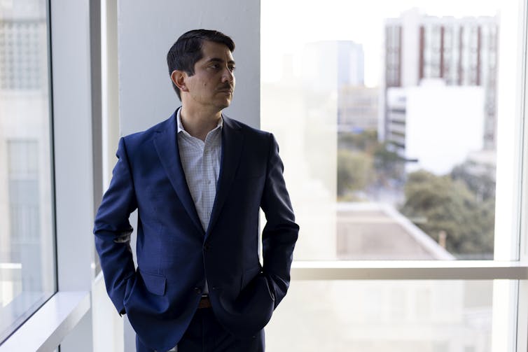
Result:
M289 287L299 228L277 143L222 114L235 88L233 50L218 31L183 34L167 55L181 108L119 141L94 233L137 351L264 351L263 327Z

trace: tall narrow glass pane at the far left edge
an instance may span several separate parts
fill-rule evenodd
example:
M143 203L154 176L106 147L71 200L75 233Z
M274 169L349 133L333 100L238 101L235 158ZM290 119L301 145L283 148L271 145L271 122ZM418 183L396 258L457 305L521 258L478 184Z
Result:
M0 342L55 292L46 1L0 2Z

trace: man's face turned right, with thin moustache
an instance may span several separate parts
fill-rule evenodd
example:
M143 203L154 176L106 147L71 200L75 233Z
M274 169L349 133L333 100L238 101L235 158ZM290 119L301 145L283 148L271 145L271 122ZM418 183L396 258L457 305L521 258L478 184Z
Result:
M202 54L195 63L195 74L185 80L188 103L221 111L231 104L235 90L235 61L227 46L212 41L202 43Z

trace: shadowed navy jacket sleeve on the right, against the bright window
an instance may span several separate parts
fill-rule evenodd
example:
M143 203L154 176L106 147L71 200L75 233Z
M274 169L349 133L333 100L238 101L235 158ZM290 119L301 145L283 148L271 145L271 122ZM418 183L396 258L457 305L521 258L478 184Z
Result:
M260 206L266 217L262 232L263 272L268 279L270 290L275 295L275 307L289 288L293 248L299 232L284 183L283 171L279 146L275 137L270 134L268 169Z

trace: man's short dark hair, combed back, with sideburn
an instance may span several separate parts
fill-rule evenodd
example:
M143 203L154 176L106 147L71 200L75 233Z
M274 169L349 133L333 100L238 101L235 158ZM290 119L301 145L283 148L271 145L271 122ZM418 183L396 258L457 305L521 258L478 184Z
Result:
M203 41L213 41L220 43L229 48L231 52L235 50L235 42L225 34L219 31L211 31L209 29L193 29L182 34L176 43L172 45L167 53L167 66L169 66L169 75L174 70L180 70L193 76L195 73L195 64L202 59L202 43ZM178 98L181 100L180 90L174 82L172 87L176 91Z

